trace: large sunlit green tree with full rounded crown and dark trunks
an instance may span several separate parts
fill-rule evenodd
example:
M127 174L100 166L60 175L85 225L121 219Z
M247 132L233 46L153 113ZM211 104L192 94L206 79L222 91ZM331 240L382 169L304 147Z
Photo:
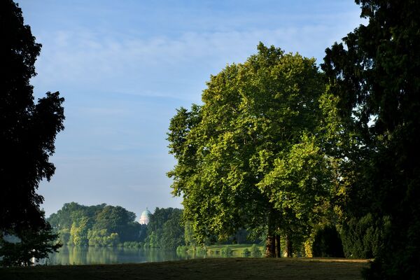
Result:
M268 228L274 256L279 235L291 241L316 220L331 178L315 141L325 84L314 62L260 43L258 54L211 76L202 106L172 118L177 165L168 176L198 241Z

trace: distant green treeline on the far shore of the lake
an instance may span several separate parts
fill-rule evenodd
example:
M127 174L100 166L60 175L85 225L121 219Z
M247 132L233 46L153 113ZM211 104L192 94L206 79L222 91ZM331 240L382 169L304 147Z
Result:
M123 207L66 203L48 218L59 242L70 246L144 246L176 248L185 244L181 209L156 208L148 225Z

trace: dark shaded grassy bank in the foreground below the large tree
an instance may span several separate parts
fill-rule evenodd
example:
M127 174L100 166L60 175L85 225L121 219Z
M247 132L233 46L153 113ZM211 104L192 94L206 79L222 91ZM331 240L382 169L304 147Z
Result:
M123 265L1 268L2 280L41 279L312 279L357 280L367 260L321 258L208 258Z

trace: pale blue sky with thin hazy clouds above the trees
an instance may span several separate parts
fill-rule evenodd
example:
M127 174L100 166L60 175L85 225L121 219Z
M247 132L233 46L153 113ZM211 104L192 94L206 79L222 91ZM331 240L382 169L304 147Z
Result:
M48 217L66 202L179 207L166 173L169 120L201 104L211 75L261 41L315 57L360 25L351 0L18 0L43 45L35 98L59 91L65 129L38 193Z

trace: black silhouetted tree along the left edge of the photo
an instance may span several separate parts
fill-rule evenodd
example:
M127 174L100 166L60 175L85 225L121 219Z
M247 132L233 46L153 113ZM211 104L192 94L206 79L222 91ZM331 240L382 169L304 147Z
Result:
M47 92L34 102L29 79L36 75L41 44L11 0L0 1L0 38L0 241L6 248L3 237L16 235L24 237L22 243L36 239L43 249L51 249L48 241L53 235L48 234L50 227L40 209L43 197L36 189L55 172L49 157L57 133L64 129L64 98Z

